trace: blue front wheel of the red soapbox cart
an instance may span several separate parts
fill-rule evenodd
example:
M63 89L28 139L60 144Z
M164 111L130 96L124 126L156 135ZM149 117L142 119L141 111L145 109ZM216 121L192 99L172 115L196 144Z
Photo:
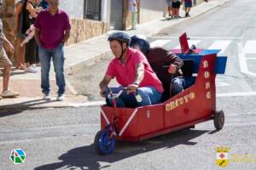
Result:
M99 155L111 154L114 150L115 139L112 137L109 139L111 131L104 129L96 133L94 139L94 145L96 153Z

